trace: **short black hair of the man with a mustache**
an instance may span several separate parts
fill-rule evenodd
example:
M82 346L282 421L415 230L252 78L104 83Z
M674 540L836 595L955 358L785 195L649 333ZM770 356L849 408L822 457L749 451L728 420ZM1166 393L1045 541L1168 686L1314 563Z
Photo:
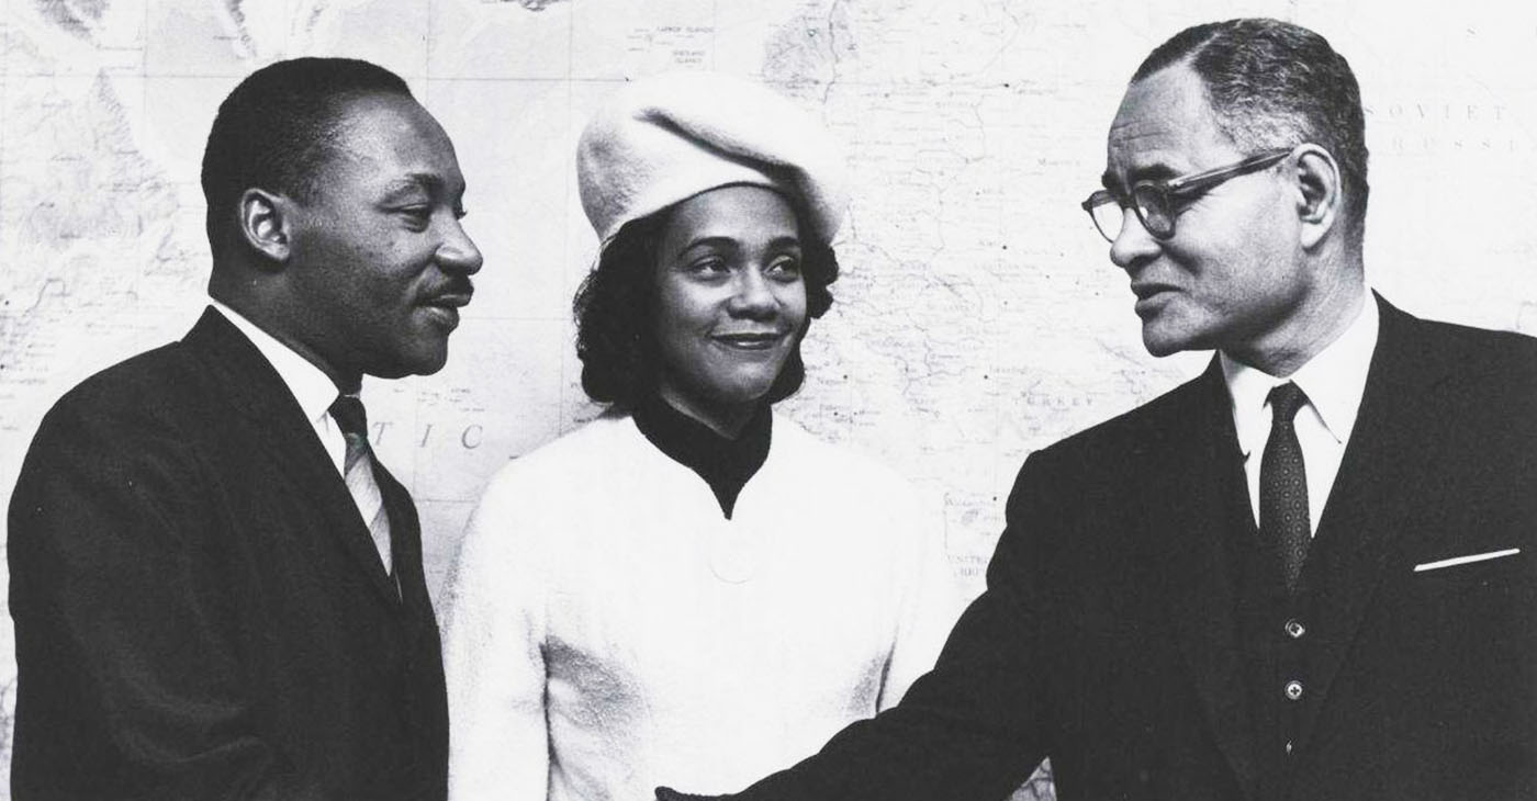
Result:
M412 97L400 75L357 58L292 58L240 81L218 106L203 151L207 240L218 252L240 194L251 188L309 203L340 134L347 100Z

